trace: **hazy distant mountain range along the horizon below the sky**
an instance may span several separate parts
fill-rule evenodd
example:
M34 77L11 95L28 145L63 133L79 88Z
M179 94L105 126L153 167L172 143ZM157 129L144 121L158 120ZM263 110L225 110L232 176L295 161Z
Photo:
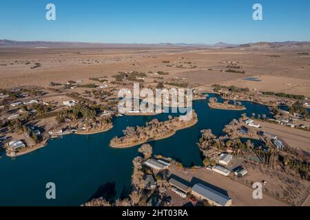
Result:
M83 43L63 41L12 41L0 40L0 48L107 48L107 47L202 47L202 48L242 48L244 50L272 49L280 47L310 47L310 42L285 41L285 42L259 42L242 45L219 42L216 44L204 43L158 43L158 44L125 44L125 43Z

